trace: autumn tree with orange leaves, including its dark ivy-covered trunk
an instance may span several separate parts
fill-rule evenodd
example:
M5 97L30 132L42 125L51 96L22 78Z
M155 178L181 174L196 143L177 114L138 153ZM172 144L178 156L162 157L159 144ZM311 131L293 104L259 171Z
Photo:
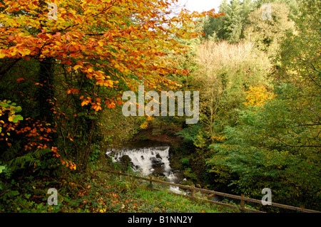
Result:
M182 10L173 16L170 5L0 1L0 100L12 96L21 101L21 115L29 125L17 122L16 132L32 131L21 148L51 149L72 169L69 159L85 165L101 137L102 110L120 105L123 90L136 90L138 84L174 88L166 75L187 73L172 58L186 51L175 38L197 35L187 31L193 19L219 15Z

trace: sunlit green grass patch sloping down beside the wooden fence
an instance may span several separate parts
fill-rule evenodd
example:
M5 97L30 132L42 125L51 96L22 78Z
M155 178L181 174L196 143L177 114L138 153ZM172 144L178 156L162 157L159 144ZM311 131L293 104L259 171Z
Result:
M109 208L101 212L139 212L139 213L223 213L232 209L215 204L193 201L184 196L175 195L168 190L155 191L148 189L146 181L141 183L126 176L115 176L101 172L101 179L106 181L109 195L113 200ZM117 193L113 194L113 193Z

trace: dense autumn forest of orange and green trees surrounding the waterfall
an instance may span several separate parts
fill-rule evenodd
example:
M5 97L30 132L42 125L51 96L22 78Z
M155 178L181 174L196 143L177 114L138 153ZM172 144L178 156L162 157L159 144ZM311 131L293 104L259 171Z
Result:
M321 210L320 1L52 3L0 0L0 212L138 211L95 174L108 147L162 138L185 184ZM198 122L123 115L138 85L199 91Z

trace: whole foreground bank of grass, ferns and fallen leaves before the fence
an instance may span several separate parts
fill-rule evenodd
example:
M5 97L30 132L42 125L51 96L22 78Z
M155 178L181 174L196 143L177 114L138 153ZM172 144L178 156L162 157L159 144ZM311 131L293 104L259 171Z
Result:
M131 173L133 174L133 173ZM149 182L118 176L96 168L88 174L68 174L63 179L21 176L1 191L0 213L225 213L235 210L193 201ZM58 191L58 205L49 206L48 189Z

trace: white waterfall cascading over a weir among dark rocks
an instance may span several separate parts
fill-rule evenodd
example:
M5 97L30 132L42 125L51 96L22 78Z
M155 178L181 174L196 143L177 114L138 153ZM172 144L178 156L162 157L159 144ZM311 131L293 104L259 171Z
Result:
M168 146L163 147L131 147L121 149L108 149L106 154L112 157L113 162L131 162L132 168L141 171L143 176L150 174L160 174L168 181L179 184L181 174L171 169L169 161ZM171 191L182 193L178 187L170 186Z

